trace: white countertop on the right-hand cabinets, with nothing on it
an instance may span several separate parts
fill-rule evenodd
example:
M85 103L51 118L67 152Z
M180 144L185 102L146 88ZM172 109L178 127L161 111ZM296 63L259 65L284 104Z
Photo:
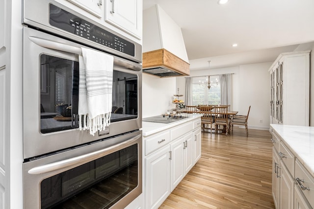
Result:
M314 127L270 124L294 156L314 176Z

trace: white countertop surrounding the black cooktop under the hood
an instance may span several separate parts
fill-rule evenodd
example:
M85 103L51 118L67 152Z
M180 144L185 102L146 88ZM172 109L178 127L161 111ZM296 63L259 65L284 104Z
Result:
M182 114L182 116L188 116L188 118L181 119L179 121L171 122L171 123L156 123L156 122L142 122L142 131L143 137L147 137L149 135L155 134L157 132L166 130L168 128L172 128L174 126L183 124L185 122L194 120L196 118L201 118L200 114Z

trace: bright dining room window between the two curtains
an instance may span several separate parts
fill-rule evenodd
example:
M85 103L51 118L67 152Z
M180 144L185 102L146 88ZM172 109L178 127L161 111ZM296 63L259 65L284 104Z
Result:
M208 76L192 78L192 105L217 105L220 104L219 75L210 76L208 89Z

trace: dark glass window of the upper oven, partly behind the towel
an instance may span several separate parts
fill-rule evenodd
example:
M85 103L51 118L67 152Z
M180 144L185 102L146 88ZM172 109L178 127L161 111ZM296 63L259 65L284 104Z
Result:
M76 61L41 55L41 133L78 128L78 70L79 65ZM112 83L111 122L137 118L137 75L113 70Z

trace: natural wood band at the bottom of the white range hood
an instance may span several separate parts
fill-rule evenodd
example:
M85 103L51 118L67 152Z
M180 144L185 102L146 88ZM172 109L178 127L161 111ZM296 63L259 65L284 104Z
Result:
M190 64L164 48L143 53L143 72L158 77L190 74Z

